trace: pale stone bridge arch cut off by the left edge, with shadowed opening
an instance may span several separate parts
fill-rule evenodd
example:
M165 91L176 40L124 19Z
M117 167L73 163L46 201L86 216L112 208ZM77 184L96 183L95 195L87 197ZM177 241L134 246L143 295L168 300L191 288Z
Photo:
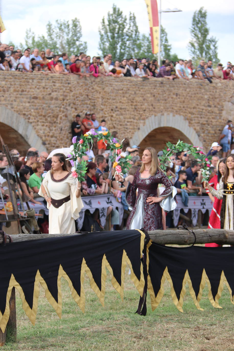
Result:
M32 124L5 106L0 106L0 131L9 150L17 148L24 154L29 147L35 147L39 153L47 152Z

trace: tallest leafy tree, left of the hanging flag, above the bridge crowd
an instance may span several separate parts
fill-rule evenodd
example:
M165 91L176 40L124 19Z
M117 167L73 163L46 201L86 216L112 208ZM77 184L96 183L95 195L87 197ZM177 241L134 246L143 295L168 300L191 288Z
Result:
M127 46L127 17L123 12L113 4L112 12L107 14L107 22L102 18L101 27L99 27L99 49L102 55L112 54L113 60L122 59L126 54Z

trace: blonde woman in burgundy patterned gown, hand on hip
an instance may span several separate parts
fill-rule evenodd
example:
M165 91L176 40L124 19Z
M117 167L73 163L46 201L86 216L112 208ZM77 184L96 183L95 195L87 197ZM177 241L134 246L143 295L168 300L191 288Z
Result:
M127 184L120 175L115 176L115 179L128 186L125 198L133 210L127 220L127 229L162 229L162 210L159 203L172 193L172 184L160 170L156 150L152 147L144 150L142 166L136 172L132 184ZM160 197L157 192L159 184L165 186Z

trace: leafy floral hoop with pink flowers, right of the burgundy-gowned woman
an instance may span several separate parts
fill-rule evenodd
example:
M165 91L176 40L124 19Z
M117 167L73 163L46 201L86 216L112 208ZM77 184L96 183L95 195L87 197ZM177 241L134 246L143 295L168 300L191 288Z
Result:
M172 144L168 141L166 145L167 147L162 150L163 155L159 157L160 167L163 171L166 171L166 163L170 160L170 156L176 152L185 151L187 154L193 155L195 159L200 160L203 164L203 167L201 168L202 182L209 180L210 159L212 159L212 156L207 157L206 154L201 151L202 147L184 143L183 141L180 141L180 139L176 144Z

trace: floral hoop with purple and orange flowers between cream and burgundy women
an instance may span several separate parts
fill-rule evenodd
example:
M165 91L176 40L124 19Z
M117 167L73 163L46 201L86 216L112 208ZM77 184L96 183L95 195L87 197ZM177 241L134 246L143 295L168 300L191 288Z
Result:
M115 174L126 174L130 168L128 161L131 160L132 156L120 156L122 151L122 142L124 139L121 141L121 143L119 143L118 139L113 138L109 131L96 132L95 129L92 128L87 133L82 135L79 140L78 137L72 138L72 145L70 146L71 153L67 155L67 160L70 161L73 167L72 176L80 182L85 180L87 162L85 160L81 160L81 158L82 156L86 155L87 151L92 150L94 138L96 138L97 141L102 140L107 146L107 149L111 150L109 158L113 162Z

